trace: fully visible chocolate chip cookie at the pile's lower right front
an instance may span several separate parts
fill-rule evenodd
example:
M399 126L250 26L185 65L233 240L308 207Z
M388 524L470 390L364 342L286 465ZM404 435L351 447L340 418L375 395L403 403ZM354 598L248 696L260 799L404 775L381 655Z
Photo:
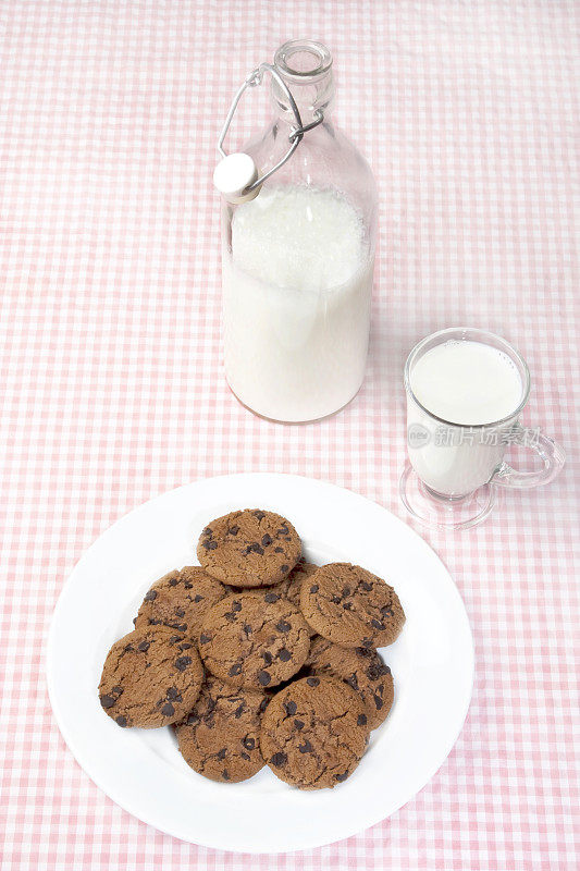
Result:
M276 777L301 789L346 781L367 747L367 712L335 677L305 677L276 692L262 716L260 745Z

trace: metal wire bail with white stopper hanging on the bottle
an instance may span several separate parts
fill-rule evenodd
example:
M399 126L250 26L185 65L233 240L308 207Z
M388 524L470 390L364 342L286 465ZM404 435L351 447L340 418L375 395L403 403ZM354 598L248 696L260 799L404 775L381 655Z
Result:
M293 125L291 128L291 133L288 136L289 147L284 157L282 158L282 160L280 160L274 167L264 172L262 176L258 177L258 172L254 164L254 161L252 161L254 171L251 170L251 167L247 162L251 160L249 155L242 155L242 154L227 155L226 151L224 150L223 143L227 135L227 131L230 130L230 125L232 124L235 111L244 93L247 90L247 88L254 88L257 87L258 85L261 85L263 82L264 73L270 73L272 78L282 89L284 96L286 97L289 103L296 124ZM291 159L291 157L301 143L305 133L307 133L310 130L313 130L313 127L317 127L323 120L324 115L320 110L317 109L317 111L314 112L314 120L310 124L303 125L303 119L300 116L300 111L296 105L296 100L292 96L288 86L277 72L275 66L273 66L271 63L260 63L260 65L257 66L256 70L252 70L252 72L246 77L244 84L238 88L232 101L232 106L230 107L230 111L225 116L225 122L222 132L220 134L220 138L218 140L218 150L221 154L223 160L215 168L215 172L213 175L213 181L215 183L215 186L226 197L226 199L229 199L232 203L240 203L244 201L245 199L251 199L258 194L259 188L267 181L267 179L269 179L274 172L281 169L284 165L284 163L286 163ZM235 167L236 181L239 181L240 179L244 177L244 181L246 182L243 187L236 185L236 183L232 183L232 177L230 173L224 169L225 161L229 161L232 163L232 171L233 171L234 158L237 159L237 164ZM243 158L245 158L246 160L243 161L242 160ZM242 172L242 174L239 174L239 172Z

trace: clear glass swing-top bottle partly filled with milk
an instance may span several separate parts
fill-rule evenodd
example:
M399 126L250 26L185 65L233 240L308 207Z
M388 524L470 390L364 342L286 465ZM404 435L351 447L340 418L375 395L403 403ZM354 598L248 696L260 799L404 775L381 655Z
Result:
M377 235L377 188L355 146L331 122L332 58L286 42L271 74L275 116L225 157L222 271L227 382L272 420L317 420L343 408L365 376ZM222 149L222 154L225 152Z

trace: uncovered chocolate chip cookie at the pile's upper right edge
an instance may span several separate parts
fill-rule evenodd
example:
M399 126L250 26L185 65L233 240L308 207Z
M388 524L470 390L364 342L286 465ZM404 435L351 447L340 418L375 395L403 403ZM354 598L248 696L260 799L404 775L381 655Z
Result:
M330 563L300 591L300 608L310 626L342 647L392 645L405 623L393 587L350 563Z

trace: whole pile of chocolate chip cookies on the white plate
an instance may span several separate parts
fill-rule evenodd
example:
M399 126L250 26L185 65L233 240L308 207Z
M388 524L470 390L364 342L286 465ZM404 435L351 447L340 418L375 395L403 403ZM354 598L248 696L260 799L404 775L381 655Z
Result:
M405 623L397 594L359 566L305 562L293 525L261 510L210 523L197 555L112 646L103 710L124 727L173 724L186 762L214 781L268 764L303 789L342 783L393 703L377 648Z

